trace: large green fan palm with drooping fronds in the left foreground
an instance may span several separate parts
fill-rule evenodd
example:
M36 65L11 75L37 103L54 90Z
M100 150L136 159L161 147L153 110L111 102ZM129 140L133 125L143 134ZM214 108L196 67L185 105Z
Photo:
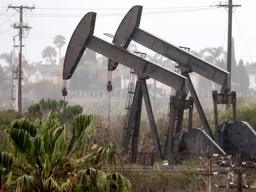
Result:
M93 115L74 118L70 138L58 114L45 120L19 119L7 130L7 151L0 154L0 188L4 191L131 191L119 173L102 165L116 162L113 144L98 147L93 140Z

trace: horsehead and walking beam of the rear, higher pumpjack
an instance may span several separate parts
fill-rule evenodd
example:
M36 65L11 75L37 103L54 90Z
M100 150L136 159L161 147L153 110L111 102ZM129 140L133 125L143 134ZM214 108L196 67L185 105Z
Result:
M147 31L143 31L139 28L141 15L142 6L134 6L129 10L114 35L113 43L116 46L126 49L131 40L135 41L146 48L177 62L191 72L196 72L211 81L215 81L223 86L223 88L230 89L228 87L230 85L230 83L228 83L229 72L203 61L189 52L151 35ZM117 67L117 64L117 62L109 61L109 70L114 70Z

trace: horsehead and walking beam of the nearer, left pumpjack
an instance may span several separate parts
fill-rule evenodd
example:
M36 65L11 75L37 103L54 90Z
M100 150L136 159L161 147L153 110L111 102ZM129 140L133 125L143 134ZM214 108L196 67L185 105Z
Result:
M189 92L188 80L186 77L161 67L158 64L142 59L141 57L128 52L126 49L93 36L95 19L96 13L89 12L75 28L67 47L63 67L63 79L67 80L72 77L83 52L88 48L112 59L114 62L121 63L134 69L137 75L153 78L181 91L182 93L187 94Z

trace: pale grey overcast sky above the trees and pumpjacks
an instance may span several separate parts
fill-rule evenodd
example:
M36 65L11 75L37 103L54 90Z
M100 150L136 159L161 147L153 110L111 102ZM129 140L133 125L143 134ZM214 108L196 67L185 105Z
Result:
M227 1L221 2L226 3ZM53 39L56 35L63 35L66 38L66 45L62 48L61 54L65 56L67 44L75 27L87 12L97 13L94 35L111 42L111 38L103 33L114 35L124 15L135 5L143 6L140 28L169 43L195 51L218 46L227 49L228 10L218 7L220 1L1 0L0 54L12 51L12 36L18 34L17 29L11 25L19 22L19 12L7 9L9 4L29 7L35 5L35 9L23 12L23 21L32 27L27 38L23 39L22 49L22 54L30 63L43 61L41 52L46 46L54 46ZM244 63L255 62L256 1L233 0L233 4L241 5L233 9L233 37L237 62L239 59L243 59ZM16 37L15 40L18 44L19 38ZM57 48L56 51L58 52ZM152 53L143 48L140 48L140 51Z

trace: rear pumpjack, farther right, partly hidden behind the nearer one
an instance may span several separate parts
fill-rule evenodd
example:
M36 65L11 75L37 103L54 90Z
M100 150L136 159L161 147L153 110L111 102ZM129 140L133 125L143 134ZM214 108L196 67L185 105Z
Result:
M202 61L202 59L189 54L181 48L174 46L147 31L139 28L142 15L142 6L134 6L126 14L114 35L113 44L123 48L129 46L130 41L135 41L152 51L161 54L179 64L181 74L189 80L189 92L192 100L187 101L186 94L179 91L170 99L170 120L168 136L166 138L163 160L170 157L171 153L186 150L192 154L205 154L206 152L220 152L222 154L237 154L239 149L249 156L255 156L256 134L249 123L241 122L236 117L236 92L231 92L230 74L215 65ZM115 69L117 63L109 60L109 69ZM215 136L208 125L197 93L195 92L189 73L196 72L211 81L221 85L220 93L213 91L213 104L215 114ZM182 131L182 118L185 109L192 106L194 102L200 116L204 130L192 129L192 115L189 115L189 126L186 132ZM190 104L189 104L190 103ZM232 104L233 122L218 124L218 104ZM191 111L190 111L191 112ZM176 125L175 125L176 124ZM126 136L129 138L129 136ZM250 138L247 140L247 138ZM126 146L124 146L126 148Z

